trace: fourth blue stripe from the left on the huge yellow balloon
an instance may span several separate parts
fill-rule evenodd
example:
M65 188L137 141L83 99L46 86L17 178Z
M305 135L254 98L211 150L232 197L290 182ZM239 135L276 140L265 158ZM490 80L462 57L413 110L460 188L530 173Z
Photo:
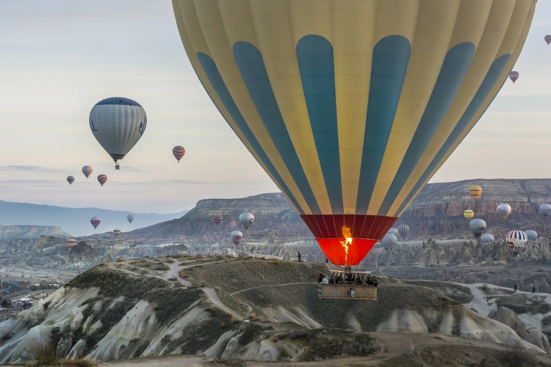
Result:
M373 49L364 151L356 201L358 215L365 215L371 201L406 79L410 54L408 39L396 35L383 38Z

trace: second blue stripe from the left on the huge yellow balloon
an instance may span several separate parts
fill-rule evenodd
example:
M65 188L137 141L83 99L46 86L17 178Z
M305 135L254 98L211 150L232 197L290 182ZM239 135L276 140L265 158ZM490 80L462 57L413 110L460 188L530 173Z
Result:
M285 166L293 177L312 214L321 214L320 207L312 192L310 183L306 178L304 169L296 155L295 147L285 127L285 122L279 111L276 96L272 90L262 54L254 45L249 42L235 42L233 46L234 57L239 72L256 110L268 130L279 155L282 157Z

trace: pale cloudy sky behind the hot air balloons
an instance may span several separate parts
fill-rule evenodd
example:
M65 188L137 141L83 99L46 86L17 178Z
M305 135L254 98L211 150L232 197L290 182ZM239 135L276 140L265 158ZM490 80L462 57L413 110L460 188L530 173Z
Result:
M547 178L551 1L540 0L515 65L430 182ZM169 0L0 2L0 200L134 212L279 191L225 123L183 50ZM147 132L121 170L90 132L96 102L138 101ZM172 147L182 145L181 163ZM85 179L80 171L90 165ZM96 176L109 177L104 187ZM65 178L72 175L69 187Z

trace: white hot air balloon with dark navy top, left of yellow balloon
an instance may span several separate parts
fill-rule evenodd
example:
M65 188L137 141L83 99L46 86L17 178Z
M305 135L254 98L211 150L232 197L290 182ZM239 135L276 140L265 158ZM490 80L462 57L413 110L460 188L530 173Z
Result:
M147 116L138 102L111 97L95 104L90 111L89 122L98 143L117 163L142 137Z

